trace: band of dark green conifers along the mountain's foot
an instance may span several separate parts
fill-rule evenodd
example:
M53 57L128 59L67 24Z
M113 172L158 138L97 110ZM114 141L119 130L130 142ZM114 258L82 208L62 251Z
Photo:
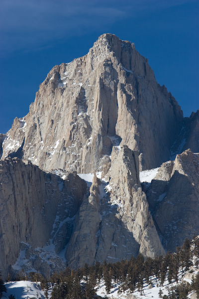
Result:
M191 246L193 245L193 250ZM50 283L52 284L52 299L94 299L96 297L95 287L104 280L105 290L110 293L112 284L119 283L119 292L129 289L134 292L138 288L142 293L143 284L152 283L151 276L155 276L159 286L163 286L166 278L169 283L178 283L179 271L185 272L192 266L193 254L199 258L199 238L195 237L191 242L186 239L184 245L178 247L176 253L168 252L164 257L144 260L142 255L130 260L122 260L114 264L104 261L103 264L97 262L89 267L77 271L67 268L60 274L54 273L50 279L44 279L41 274L31 272L28 276L24 271L18 275L19 280L30 279L40 281L40 286L44 291L45 298L48 297ZM198 264L196 264L199 267ZM163 299L185 299L191 290L196 290L199 298L199 274L193 279L192 285L182 283L170 288L169 295L164 295ZM3 291L4 292L4 291ZM0 293L1 294L1 293ZM160 298L162 294L160 291Z

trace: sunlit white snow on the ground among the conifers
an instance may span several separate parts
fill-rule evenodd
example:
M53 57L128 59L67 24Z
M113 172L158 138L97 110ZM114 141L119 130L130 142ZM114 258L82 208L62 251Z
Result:
M196 237L197 240L198 237ZM172 288L176 288L178 286L182 286L183 283L189 284L190 286L193 284L193 281L196 280L196 276L199 274L199 254L198 254L198 243L195 245L192 243L191 245L191 253L192 257L190 260L190 268L186 271L186 268L179 266L178 270L178 283L172 279L172 281L168 280L168 271L163 285L161 285L160 279L156 276L150 276L149 282L147 283L144 279L143 288L137 288L132 293L129 289L123 291L121 283L114 283L111 281L111 288L109 294L106 293L105 282L103 279L100 280L100 283L96 286L96 294L99 298L109 298L109 299L159 299L168 296L171 294ZM186 265L186 264L185 264ZM168 270L168 269L167 269ZM86 280L82 280L81 284L85 285ZM137 285L136 285L137 286ZM16 299L30 299L30 298L45 298L45 287L44 291L41 289L41 284L38 282L29 282L29 281L18 281L18 282L7 282L5 284L7 289L7 293L4 293L4 298L8 298L11 294L15 296ZM196 285L195 285L196 287ZM51 297L52 285L48 283L48 298ZM196 299L196 292L190 291L186 298L188 299ZM161 295L161 297L160 297ZM176 297L173 297L176 298ZM181 297L182 298L182 297Z

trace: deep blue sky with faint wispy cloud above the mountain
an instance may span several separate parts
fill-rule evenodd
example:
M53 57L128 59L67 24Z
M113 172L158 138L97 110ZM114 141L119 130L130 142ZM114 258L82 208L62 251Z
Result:
M134 42L184 116L199 109L198 0L0 0L0 133L28 113L54 65L106 32Z

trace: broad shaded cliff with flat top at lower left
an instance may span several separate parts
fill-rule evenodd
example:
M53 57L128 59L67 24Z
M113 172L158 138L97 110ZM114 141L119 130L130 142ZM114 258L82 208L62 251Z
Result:
M0 161L0 269L4 278L20 250L25 254L29 249L26 264L34 248L51 245L57 255L64 249L85 192L86 183L76 173L63 180L17 158ZM32 256L32 264L41 271L44 259L36 265L36 253Z

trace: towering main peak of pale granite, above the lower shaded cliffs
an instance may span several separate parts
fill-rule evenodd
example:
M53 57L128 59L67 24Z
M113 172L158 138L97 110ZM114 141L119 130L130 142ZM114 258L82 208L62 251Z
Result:
M103 34L86 56L50 71L28 115L15 118L6 134L2 158L88 173L116 136L138 151L141 169L153 168L169 159L182 121L180 106L134 44Z

